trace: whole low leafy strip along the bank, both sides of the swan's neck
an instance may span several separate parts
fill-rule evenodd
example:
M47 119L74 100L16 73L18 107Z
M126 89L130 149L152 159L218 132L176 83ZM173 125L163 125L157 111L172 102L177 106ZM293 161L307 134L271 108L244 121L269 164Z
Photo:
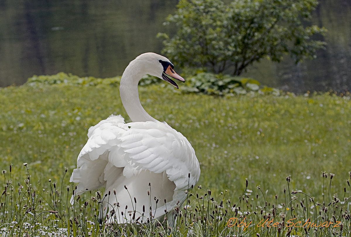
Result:
M234 94L246 94L247 92L268 93L279 95L279 90L270 87L260 88L260 83L257 80L245 77L232 77L230 75L213 74L198 71L196 75L185 75L185 85L179 88L183 92L195 92L219 96L234 96ZM34 75L29 78L27 85L33 87L40 87L41 85L81 85L81 86L99 86L111 85L119 86L121 77L113 78L94 78L94 77L78 77L71 73L60 72L55 75ZM139 86L148 86L152 84L159 84L166 86L161 79L145 75L140 81ZM168 85L173 88L171 85Z

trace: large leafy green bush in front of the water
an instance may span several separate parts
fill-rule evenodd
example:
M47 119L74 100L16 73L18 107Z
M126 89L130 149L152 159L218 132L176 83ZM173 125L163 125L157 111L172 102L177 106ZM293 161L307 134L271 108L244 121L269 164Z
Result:
M325 43L314 40L325 28L306 26L317 0L181 0L165 25L177 33L164 38L166 54L183 67L240 75L262 58L279 62L284 54L299 62L314 58Z

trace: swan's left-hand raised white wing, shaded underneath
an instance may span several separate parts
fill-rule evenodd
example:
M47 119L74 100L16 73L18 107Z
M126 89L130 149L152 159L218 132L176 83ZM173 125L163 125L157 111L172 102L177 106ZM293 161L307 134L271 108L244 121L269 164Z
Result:
M104 186L104 170L110 162L116 167L124 167L124 153L121 153L118 138L128 130L124 118L111 115L88 130L88 141L77 158L69 182L79 183L75 195ZM120 154L121 153L121 154ZM73 203L73 196L71 198Z

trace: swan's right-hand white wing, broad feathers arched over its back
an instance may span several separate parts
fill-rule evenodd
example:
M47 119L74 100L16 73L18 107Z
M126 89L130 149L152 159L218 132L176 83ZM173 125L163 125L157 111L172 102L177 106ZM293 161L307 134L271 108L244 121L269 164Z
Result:
M164 214L165 206L173 208L178 201L181 204L185 200L184 190L195 185L199 179L199 162L189 141L165 122L133 122L126 125L130 129L119 138L128 161L123 175L132 179L138 178L139 173L143 175L150 171L159 174L159 179L168 178L160 183L155 181L156 187L151 184L154 193L167 193L168 197L172 197L171 200L167 199L166 205L161 202L163 205L155 210L154 217L157 218ZM169 181L174 184L170 185Z

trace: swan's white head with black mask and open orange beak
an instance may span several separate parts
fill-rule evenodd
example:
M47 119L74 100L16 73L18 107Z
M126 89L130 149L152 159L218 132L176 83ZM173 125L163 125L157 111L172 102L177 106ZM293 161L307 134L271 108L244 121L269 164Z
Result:
M177 89L178 85L172 80L172 78L185 82L184 78L174 71L174 65L171 61L162 55L157 53L143 53L134 60L138 61L138 65L142 67L140 69L143 70L145 74L167 81Z

